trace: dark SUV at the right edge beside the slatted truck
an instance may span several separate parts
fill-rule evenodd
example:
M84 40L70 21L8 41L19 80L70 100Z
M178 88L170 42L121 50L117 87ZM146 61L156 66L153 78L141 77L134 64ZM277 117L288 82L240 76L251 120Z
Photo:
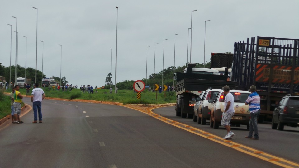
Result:
M299 96L282 97L273 111L272 129L283 130L284 126L297 127L299 123Z

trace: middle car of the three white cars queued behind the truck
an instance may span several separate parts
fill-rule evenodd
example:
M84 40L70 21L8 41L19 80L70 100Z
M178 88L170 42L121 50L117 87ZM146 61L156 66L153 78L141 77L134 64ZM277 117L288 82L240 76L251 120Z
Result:
M202 125L206 125L206 120L210 120L211 118L211 107L212 107L212 103L209 103L209 100L215 100L217 93L220 91L221 89L212 89L211 87L209 89L207 89L204 93L204 95L202 96L202 100L199 104L198 110L197 110L197 123L198 124L202 124Z

